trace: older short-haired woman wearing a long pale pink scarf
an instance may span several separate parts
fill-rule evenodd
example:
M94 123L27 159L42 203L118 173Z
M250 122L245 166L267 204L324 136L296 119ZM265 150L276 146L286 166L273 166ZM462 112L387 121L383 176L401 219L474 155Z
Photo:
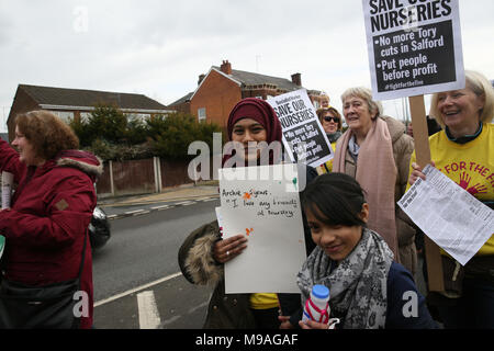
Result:
M405 125L382 115L382 105L367 88L341 95L348 131L336 145L333 171L353 177L368 194L368 227L386 241L394 260L415 274L415 228L396 202L405 193L414 140Z

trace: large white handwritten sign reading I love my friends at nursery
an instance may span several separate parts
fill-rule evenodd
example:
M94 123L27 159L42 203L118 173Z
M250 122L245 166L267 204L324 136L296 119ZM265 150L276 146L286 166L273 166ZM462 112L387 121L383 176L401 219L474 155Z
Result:
M225 292L299 293L296 273L305 260L304 229L294 163L249 167L282 178L235 180L220 170L223 237L247 237L247 249L225 264Z

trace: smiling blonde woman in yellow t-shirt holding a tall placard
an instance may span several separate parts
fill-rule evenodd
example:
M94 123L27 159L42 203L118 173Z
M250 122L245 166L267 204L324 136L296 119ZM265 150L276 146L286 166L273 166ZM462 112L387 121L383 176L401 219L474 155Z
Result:
M433 95L430 115L444 128L429 138L433 166L493 208L494 89L479 72L465 71L465 77L464 89ZM414 152L409 184L418 177L425 180ZM444 250L441 254L460 268ZM447 305L438 305L445 327L494 328L494 235L464 265L460 286L458 291L447 292Z

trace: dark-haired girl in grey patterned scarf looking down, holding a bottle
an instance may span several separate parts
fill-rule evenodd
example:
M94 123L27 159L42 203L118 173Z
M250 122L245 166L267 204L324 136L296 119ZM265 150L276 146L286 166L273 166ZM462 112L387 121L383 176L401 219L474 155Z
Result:
M303 305L314 284L329 288L330 317L345 329L435 328L411 273L393 261L380 235L368 229L369 204L359 183L344 173L317 177L302 194L317 247L297 275ZM327 329L315 321L304 329Z

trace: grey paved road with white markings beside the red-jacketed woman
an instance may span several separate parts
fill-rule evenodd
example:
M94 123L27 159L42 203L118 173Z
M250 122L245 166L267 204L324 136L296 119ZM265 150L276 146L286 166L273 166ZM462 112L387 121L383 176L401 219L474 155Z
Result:
M202 326L212 288L176 275L180 272L177 252L190 231L215 218L214 207L220 202L176 203L179 205L168 203L170 207L112 220L111 240L93 254L97 328L142 328L143 310L160 328ZM120 207L119 213L137 210ZM149 312L149 306L155 306L154 310Z

